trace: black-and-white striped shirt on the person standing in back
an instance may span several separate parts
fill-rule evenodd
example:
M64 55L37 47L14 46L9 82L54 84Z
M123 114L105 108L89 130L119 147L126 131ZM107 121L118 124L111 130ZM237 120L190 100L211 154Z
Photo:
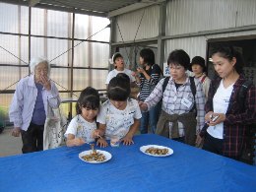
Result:
M144 101L148 96L151 95L154 88L160 82L160 66L154 64L150 70L146 70L147 74L151 76L150 80L147 80L145 76L141 75L141 83L136 83L138 87L140 87L140 95L139 99ZM150 74L151 73L151 74Z

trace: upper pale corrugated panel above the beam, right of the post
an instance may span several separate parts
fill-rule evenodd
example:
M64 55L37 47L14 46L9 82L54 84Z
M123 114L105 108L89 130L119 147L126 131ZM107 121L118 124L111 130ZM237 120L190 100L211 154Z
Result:
M172 0L166 5L166 35L255 24L255 0Z

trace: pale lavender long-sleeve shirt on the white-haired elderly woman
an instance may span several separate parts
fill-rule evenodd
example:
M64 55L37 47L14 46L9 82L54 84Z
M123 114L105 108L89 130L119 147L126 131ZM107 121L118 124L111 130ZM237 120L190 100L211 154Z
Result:
M52 108L57 108L60 104L60 97L55 84L50 81L51 90L44 88L41 91L45 114L47 116L48 103ZM21 79L17 85L10 109L10 121L15 127L20 127L27 131L32 121L32 112L37 96L37 89L34 83L34 76Z

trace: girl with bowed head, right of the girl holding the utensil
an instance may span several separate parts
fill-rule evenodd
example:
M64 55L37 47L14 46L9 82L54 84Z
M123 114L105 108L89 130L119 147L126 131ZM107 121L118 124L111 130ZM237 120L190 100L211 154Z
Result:
M110 80L108 100L101 105L96 118L99 123L96 134L100 136L96 144L100 147L106 147L106 140L113 136L117 136L124 145L134 143L133 136L140 126L142 114L137 100L129 98L130 93L128 78L117 76Z

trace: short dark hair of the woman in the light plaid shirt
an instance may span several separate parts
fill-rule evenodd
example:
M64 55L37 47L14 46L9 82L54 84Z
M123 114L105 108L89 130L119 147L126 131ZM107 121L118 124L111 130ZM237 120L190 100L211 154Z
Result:
M169 53L167 63L168 65L170 63L175 65L179 64L187 70L189 68L190 58L183 49L175 49Z

